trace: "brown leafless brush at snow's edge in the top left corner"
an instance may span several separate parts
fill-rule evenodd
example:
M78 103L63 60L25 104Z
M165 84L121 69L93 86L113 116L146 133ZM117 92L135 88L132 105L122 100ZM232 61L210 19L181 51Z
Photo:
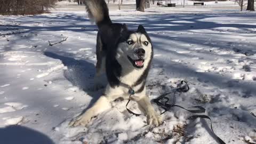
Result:
M58 0L0 0L0 14L25 15L44 13Z

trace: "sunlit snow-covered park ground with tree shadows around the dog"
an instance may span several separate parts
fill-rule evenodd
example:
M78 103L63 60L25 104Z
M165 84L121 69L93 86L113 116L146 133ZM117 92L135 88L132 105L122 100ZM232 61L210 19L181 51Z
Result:
M130 29L142 24L153 41L150 99L185 80L190 90L178 95L178 105L206 108L226 143L255 143L256 13L146 11L110 15ZM208 120L188 121L191 113L174 108L163 114L163 125L152 127L145 116L127 113L127 101L113 102L87 127L68 127L102 92L91 89L97 27L85 12L0 16L0 33L0 143L217 143ZM140 113L134 102L129 107Z

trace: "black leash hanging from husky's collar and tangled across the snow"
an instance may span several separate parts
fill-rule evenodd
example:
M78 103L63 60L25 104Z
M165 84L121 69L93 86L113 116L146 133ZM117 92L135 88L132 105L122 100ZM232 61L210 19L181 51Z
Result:
M170 111L172 107L180 107L182 109L185 109L187 111L189 111L190 113L205 113L205 108L201 107L201 106L194 106L193 108L196 108L195 110L189 110L189 109L186 109L182 106L179 106L179 105L174 105L174 104L170 104L168 103L169 101L169 98L166 97L166 95L170 94L170 93L174 93L174 97L175 97L175 93L176 92L187 92L189 90L189 86L187 84L187 82L185 81L181 81L180 83L180 87L176 88L176 89L173 89L172 91L170 92L166 92L166 93L163 93L161 94L158 98L156 99L153 99L153 102L155 102L159 107L162 107L165 111L162 114L164 114L166 111ZM129 97L129 100L128 102L126 103L126 109L127 111L129 111L130 114L133 114L135 116L140 116L141 114L135 114L133 113L130 109L127 108L127 105L129 104L129 102L131 101L131 95L133 95L135 92L134 90L132 89L132 87L130 87L130 90L129 90L129 94L130 94L130 97ZM193 115L193 116L190 116L188 117L188 119L190 120L194 120L196 118L206 118L206 119L210 119L210 122L211 122L211 130L213 132L213 134L215 135L215 137L218 139L219 143L220 144L226 144L223 140L221 140L213 131L212 129L212 119L209 117L209 116L206 116L206 115Z

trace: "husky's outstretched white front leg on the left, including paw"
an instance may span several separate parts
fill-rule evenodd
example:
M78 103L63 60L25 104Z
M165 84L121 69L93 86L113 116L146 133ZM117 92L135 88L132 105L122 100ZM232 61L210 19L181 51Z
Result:
M91 121L91 118L93 116L97 116L99 113L102 113L103 111L105 111L109 108L111 108L111 105L109 103L108 98L105 97L104 95L102 95L90 109L85 111L84 114L73 119L69 123L69 126L77 126L77 125L85 126L87 123L89 123Z

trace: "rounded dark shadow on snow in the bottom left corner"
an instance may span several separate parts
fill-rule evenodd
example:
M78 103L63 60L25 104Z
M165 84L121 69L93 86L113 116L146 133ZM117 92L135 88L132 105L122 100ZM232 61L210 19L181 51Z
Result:
M0 128L0 143L3 144L54 144L47 135L28 127L11 125Z

